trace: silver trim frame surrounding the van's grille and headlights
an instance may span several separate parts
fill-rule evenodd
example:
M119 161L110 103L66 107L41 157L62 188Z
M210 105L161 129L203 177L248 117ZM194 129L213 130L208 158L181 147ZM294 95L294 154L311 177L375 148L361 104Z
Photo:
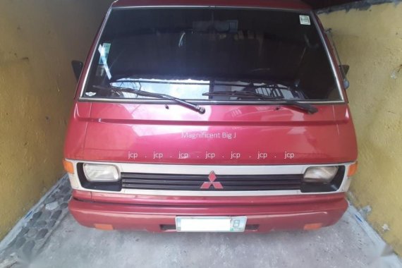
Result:
M169 196L269 196L269 195L312 195L312 194L333 194L342 193L348 190L350 178L347 177L348 166L354 162L336 164L302 164L302 165L258 165L258 166L223 166L223 165L184 165L184 164L138 164L121 162L91 162L66 159L73 162L74 174L70 174L71 186L75 190L85 190L97 193L123 193L127 195L169 195ZM120 192L104 190L91 190L83 188L77 175L77 164L113 164L121 172L136 173L169 173L169 174L209 174L214 171L218 175L258 175L258 174L303 174L310 166L339 166L345 165L346 171L339 190L327 193L302 193L300 190L264 190L264 191L188 191L188 190L137 190L122 189Z

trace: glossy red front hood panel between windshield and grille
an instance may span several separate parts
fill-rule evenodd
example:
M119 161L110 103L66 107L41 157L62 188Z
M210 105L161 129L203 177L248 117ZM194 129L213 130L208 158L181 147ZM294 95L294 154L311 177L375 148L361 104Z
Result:
M306 114L283 105L183 106L77 102L68 159L164 164L330 164L353 162L347 104Z

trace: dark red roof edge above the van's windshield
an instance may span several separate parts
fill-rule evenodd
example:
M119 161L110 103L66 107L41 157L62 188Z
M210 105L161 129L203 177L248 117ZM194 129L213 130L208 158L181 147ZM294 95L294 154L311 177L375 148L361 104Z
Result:
M128 6L247 6L293 10L311 9L300 0L117 0L112 4L112 7Z

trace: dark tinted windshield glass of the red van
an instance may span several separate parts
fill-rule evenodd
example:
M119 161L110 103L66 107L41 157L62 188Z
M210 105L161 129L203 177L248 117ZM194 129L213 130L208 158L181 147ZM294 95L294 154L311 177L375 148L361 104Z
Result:
M133 92L116 94L111 86ZM250 101L214 92L341 100L308 14L238 8L111 11L83 97L152 99L135 90L194 101Z

